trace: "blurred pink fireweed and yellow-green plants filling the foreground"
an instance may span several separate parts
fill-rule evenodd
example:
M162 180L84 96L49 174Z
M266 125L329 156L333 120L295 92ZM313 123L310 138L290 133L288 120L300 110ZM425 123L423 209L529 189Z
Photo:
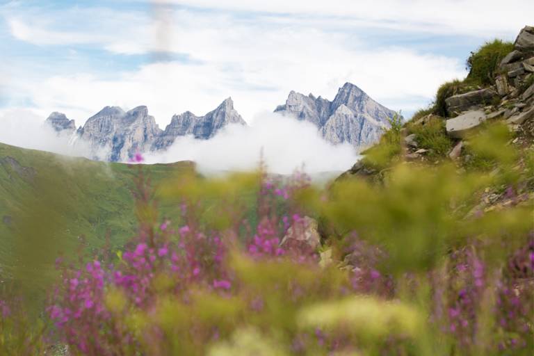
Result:
M46 334L18 327L0 301L0 350L532 355L533 207L520 192L533 172L508 169L516 157L502 147L472 147L501 173L401 163L383 181L325 189L260 169L152 191L136 165L138 234L120 251L58 261ZM487 186L502 188L505 209L476 205ZM156 202L169 201L176 213L160 217Z

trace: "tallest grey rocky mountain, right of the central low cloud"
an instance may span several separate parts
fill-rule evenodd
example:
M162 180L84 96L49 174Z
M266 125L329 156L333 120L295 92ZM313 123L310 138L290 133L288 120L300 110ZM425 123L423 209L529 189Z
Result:
M311 122L334 145L350 143L354 147L376 143L396 115L351 83L339 88L332 102L291 91L286 104L277 106L275 113Z

